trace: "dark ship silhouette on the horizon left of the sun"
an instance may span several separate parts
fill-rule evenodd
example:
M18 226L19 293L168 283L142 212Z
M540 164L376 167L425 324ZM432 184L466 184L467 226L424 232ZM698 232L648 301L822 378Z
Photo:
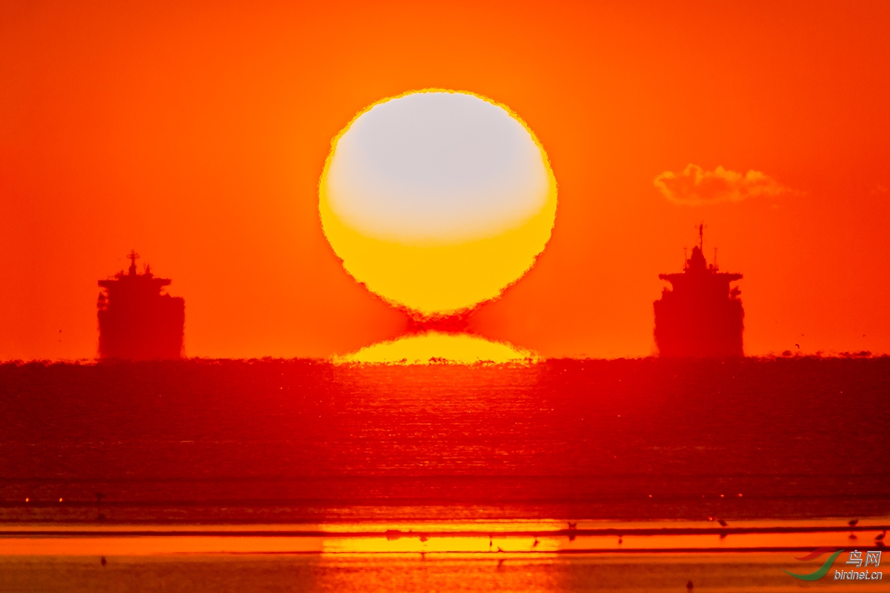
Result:
M161 294L171 280L156 278L149 265L136 272L135 250L130 269L114 280L99 280L99 357L145 361L182 357L185 301Z

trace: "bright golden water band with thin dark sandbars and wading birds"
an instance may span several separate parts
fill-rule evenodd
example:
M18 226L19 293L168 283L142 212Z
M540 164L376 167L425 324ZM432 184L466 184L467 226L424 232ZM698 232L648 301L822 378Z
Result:
M875 548L888 517L863 519L850 539L844 519L702 521L457 521L258 525L28 525L0 534L2 556L139 556L158 554L482 554L754 553L819 547ZM480 556L481 557L481 556ZM506 556L502 556L506 557ZM840 563L838 563L840 564ZM818 567L818 566L817 566Z

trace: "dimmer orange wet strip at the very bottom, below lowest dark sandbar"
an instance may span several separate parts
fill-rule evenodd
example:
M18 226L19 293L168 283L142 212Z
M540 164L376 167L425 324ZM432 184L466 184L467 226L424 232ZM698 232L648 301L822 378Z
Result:
M886 591L797 581L788 553L158 555L0 557L0 590L43 591ZM800 563L798 563L800 564ZM813 563L809 563L813 564Z

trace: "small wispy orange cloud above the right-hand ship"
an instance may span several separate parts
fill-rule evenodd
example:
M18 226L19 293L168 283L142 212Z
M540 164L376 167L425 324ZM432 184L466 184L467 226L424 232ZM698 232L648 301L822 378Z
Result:
M669 201L686 206L740 202L743 199L759 196L775 198L800 193L754 169L741 174L724 167L705 171L698 165L692 164L679 175L673 171L665 171L655 177L654 183Z

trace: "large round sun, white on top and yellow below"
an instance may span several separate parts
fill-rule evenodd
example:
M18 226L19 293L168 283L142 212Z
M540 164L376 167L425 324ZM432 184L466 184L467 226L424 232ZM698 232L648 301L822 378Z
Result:
M446 137L438 144L434 134L428 134L433 136L430 139L419 133L409 135L412 125L423 126L426 120L417 119L419 116L412 112L420 124L410 119L408 124L402 123L396 109L399 105L395 102L415 101L414 97L421 93L436 95L431 96L430 101L433 98L451 101L448 96L440 95L451 95L457 102L467 102L469 97L472 104L461 109L474 117L476 111L481 110L478 116L481 124L486 123L485 118L491 118L495 122L490 134L494 140L484 136L484 125L477 126L482 131L476 135L473 135L475 128L467 126L466 138ZM476 104L479 102L484 102L481 107ZM378 107L383 111L374 111ZM435 115L433 111L433 117L427 116L433 122L430 126L440 125L445 130L443 135L447 135L450 128L436 122ZM376 123L374 118L384 116L395 121L396 132L392 136L396 140L385 134L389 128L371 126ZM458 112L457 116L450 117L459 119L459 116ZM384 133L376 131L378 129L384 129ZM377 136L373 136L375 133ZM427 142L432 148L426 145L413 151L413 145L405 148L398 144L399 133L410 142ZM338 153L342 142L346 143ZM457 148L449 149L448 142ZM477 150L482 158L494 155L491 159L496 166L501 166L500 171L490 174L484 167L473 168L472 159L461 161L464 147L459 142L465 143L466 150ZM500 152L506 156L498 152L502 146ZM385 154L378 157L386 150L392 150L397 156L408 155L402 160L410 160L415 153L420 157L416 166L412 161L410 166L402 165L399 169L401 163L392 165L397 158L386 160ZM454 158L458 164L466 165L469 173L453 167L456 172L451 177L444 175L452 173L446 167L449 163L445 162L440 167L444 170L442 174L435 169L439 166L436 150L445 153L441 161ZM422 160L427 154L431 155L428 162ZM502 165L503 162L506 165ZM429 179L422 176L427 170L424 167L432 170ZM449 183L454 179L457 182L451 189ZM400 191L408 198L401 196ZM449 191L454 195L449 195ZM331 247L353 278L390 302L418 313L454 313L498 296L535 263L553 229L556 181L540 142L512 110L472 93L427 89L375 103L336 136L320 179L319 212ZM390 218L384 223L376 222L384 220L384 216ZM480 228L483 223L489 226Z

